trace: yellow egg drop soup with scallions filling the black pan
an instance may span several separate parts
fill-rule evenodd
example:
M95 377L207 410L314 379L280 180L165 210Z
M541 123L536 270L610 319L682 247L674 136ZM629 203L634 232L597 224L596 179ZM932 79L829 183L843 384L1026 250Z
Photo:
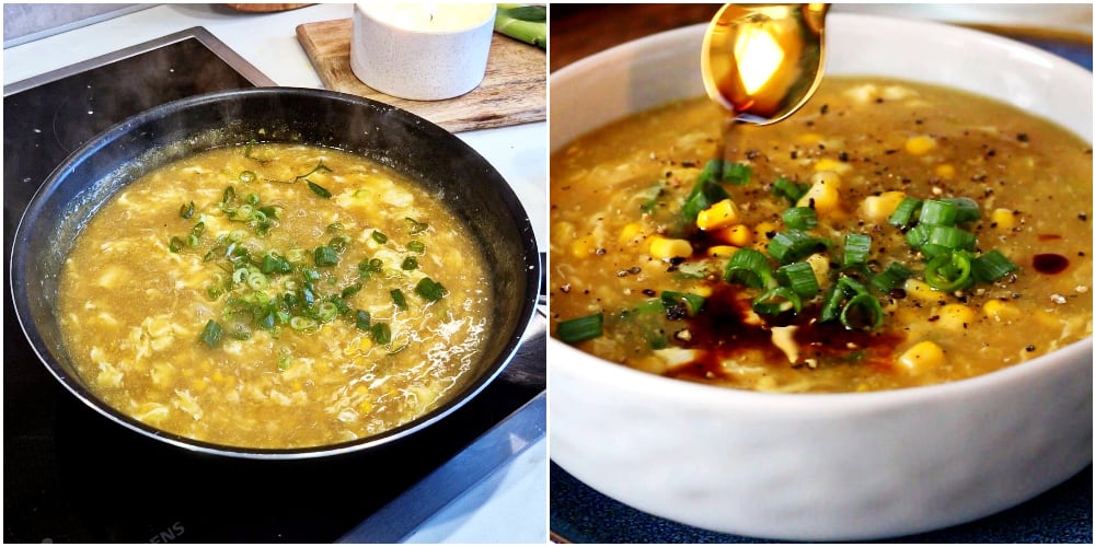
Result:
M125 187L64 267L66 347L117 410L286 449L372 435L456 392L491 330L471 234L437 198L312 146L198 153Z

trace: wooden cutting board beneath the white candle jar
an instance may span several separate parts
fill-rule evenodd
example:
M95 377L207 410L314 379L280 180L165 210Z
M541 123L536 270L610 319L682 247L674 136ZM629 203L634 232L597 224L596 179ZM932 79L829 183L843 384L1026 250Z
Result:
M353 20L297 27L297 39L331 91L350 93L412 112L449 131L543 121L548 116L548 56L534 46L495 34L483 83L445 101L393 97L361 83L349 66Z

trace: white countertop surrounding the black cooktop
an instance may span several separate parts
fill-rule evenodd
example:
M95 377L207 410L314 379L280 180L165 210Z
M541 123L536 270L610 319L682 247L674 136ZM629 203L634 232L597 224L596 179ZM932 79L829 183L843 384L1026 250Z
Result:
M353 4L316 4L277 13L241 13L210 4L161 4L4 50L4 85L194 26L223 42L278 85L323 89L297 42L302 23L348 19ZM548 125L458 133L514 187L537 242L548 242ZM362 515L364 517L365 515ZM440 511L411 543L545 543L548 447L541 440Z

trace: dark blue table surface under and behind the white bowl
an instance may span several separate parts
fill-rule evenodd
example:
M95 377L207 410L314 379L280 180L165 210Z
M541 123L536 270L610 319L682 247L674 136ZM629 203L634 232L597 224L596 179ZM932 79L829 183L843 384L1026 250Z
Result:
M1014 36L1092 70L1092 44ZM584 485L554 463L550 467L550 519L555 542L772 543L718 534L644 513ZM1006 511L940 531L877 543L1092 543L1092 467Z

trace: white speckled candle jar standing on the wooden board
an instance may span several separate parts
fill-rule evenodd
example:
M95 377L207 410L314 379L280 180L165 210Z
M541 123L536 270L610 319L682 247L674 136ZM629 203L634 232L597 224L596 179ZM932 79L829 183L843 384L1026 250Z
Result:
M496 4L355 4L350 69L388 95L438 101L474 90L486 73Z

